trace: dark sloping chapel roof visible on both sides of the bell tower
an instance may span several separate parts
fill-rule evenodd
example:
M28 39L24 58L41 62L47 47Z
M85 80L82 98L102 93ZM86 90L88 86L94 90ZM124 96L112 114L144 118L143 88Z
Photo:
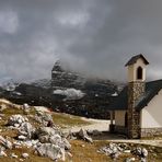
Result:
M162 89L162 80L151 81L146 83L144 94L137 101L135 108L141 111ZM116 100L108 106L112 111L124 111L128 108L128 85L124 88Z

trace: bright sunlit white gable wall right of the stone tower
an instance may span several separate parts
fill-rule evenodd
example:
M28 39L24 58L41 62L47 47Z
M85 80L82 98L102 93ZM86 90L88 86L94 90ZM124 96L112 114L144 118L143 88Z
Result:
M141 111L141 128L162 127L162 90Z

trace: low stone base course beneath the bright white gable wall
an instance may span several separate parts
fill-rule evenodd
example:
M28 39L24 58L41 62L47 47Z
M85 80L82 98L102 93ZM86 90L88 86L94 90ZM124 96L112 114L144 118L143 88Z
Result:
M158 137L162 136L162 128L142 128L140 129L140 137Z

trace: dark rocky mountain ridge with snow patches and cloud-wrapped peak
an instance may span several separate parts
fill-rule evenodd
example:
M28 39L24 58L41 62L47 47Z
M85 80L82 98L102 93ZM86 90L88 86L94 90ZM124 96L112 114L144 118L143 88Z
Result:
M0 96L18 104L43 105L74 115L108 116L107 105L117 95L118 85L109 80L89 79L62 67L59 61L54 65L51 79L7 83L0 88Z

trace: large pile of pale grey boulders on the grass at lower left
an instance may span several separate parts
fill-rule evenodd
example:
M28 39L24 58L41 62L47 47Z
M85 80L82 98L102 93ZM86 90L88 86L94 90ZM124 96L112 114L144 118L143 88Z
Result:
M23 106L23 108L28 106ZM0 146L5 149L21 148L21 146L27 146L33 148L39 155L50 158L51 160L62 159L65 160L66 150L71 149L71 144L62 136L61 130L54 125L53 117L46 112L37 112L35 116L30 115L39 124L39 127L35 128L28 120L20 114L12 115L8 120L8 126L11 129L18 130L18 137L14 142L10 142L0 136ZM48 123L51 123L49 126ZM3 150L0 151L1 155L4 155ZM18 158L16 154L12 154L12 158ZM23 153L23 159L27 159L28 154Z

